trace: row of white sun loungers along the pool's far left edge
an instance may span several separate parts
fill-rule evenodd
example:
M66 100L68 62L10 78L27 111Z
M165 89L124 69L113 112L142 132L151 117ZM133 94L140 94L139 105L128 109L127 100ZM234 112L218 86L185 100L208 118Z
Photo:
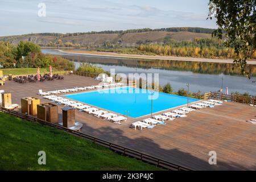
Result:
M75 87L75 88L71 88L71 89L54 90L54 91L49 91L49 92L43 92L43 90L40 89L40 90L38 90L38 94L39 94L39 96L49 96L52 94L61 94L61 93L78 92L78 91L84 91L84 90L102 89L102 88L110 87L110 86L123 86L123 85L124 84L121 84L121 83L92 85L92 86L85 86L85 87Z

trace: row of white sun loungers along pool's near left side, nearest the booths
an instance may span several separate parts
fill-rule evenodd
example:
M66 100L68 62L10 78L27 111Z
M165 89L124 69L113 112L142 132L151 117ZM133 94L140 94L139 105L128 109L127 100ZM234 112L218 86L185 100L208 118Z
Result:
M122 115L117 115L114 113L109 113L105 110L99 110L96 107L91 107L85 104L82 104L80 102L75 102L68 100L63 97L57 97L57 96L44 96L44 98L47 98L48 100L51 100L53 102L56 102L57 104L63 104L65 106L73 107L75 109L79 109L80 111L84 111L89 114L93 114L97 118L102 118L108 121L113 121L114 123L120 124L121 121L126 121L127 118L123 117Z

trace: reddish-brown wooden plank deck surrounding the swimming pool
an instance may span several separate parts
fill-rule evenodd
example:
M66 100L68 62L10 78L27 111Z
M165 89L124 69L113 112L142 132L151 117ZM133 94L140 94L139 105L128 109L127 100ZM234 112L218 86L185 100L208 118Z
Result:
M93 78L65 76L63 81L19 84L6 81L13 103L22 97L38 97L38 89L51 91L75 86L96 85ZM42 98L41 103L48 102ZM168 121L154 129L134 130L129 126L141 118L128 118L122 125L104 121L76 111L76 120L84 123L82 132L146 154L199 170L256 169L256 125L246 122L255 118L256 108L225 102L213 109L196 110L186 118ZM145 118L145 117L143 117ZM61 106L59 107L61 121ZM217 165L209 165L209 151L217 152Z

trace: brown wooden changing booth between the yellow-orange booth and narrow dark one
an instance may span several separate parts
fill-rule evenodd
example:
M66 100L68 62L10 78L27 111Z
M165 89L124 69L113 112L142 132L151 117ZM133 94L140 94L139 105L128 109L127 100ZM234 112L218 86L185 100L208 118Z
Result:
M59 123L58 106L51 103L39 104L38 119L48 121L50 123Z

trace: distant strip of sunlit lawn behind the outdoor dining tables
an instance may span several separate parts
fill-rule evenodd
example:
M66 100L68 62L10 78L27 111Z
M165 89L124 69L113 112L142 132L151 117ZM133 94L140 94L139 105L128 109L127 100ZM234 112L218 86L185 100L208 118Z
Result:
M0 69L3 75L35 75L38 68L6 68ZM53 68L53 72L57 71ZM40 68L40 74L49 73L48 68Z

